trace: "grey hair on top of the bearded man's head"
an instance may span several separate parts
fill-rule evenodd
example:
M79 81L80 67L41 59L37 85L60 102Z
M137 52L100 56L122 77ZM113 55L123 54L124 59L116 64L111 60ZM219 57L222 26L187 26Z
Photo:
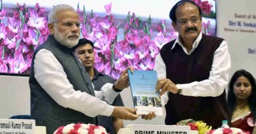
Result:
M71 7L70 5L65 5L65 4L56 5L53 7L53 9L48 14L48 22L49 23L56 22L56 13L59 10L74 10L75 11L75 9L73 7Z

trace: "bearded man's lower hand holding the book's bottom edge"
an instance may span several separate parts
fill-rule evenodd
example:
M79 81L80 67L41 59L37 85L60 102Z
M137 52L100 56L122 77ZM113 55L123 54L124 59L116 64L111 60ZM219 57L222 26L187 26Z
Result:
M112 116L123 120L136 120L140 115L136 114L137 109L126 107L115 107Z

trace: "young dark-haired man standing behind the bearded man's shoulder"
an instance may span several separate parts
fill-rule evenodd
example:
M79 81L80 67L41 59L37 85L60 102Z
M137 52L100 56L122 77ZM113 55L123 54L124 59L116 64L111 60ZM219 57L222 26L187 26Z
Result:
M99 73L95 68L95 52L94 52L93 42L87 39L79 39L79 42L76 46L74 46L73 51L75 56L81 60L83 66L93 82L95 86L95 90L100 91L100 88L104 86L106 83L112 83L116 80L111 78L108 75L104 75ZM116 99L114 99L113 106L124 106L123 101L120 95L117 95ZM123 120L116 117L108 117L108 116L98 116L98 125L104 126L108 133L114 134L117 133L120 128L123 128Z

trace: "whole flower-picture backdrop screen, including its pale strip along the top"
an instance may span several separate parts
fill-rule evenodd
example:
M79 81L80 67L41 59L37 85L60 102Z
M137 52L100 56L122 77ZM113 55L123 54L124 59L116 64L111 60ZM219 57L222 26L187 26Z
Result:
M0 73L30 72L33 50L49 35L47 14L60 3L79 12L81 37L94 42L100 73L118 78L128 66L152 70L161 46L177 37L169 19L177 1L0 0ZM203 33L216 35L215 0L193 1L202 8Z

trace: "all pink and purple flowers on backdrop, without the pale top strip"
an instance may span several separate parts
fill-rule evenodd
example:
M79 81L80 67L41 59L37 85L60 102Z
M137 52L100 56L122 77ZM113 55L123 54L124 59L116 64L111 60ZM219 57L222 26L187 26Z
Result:
M193 0L203 11L202 32L215 35L215 1ZM15 9L0 8L0 73L29 74L33 50L49 35L47 13L38 3L34 7L17 4ZM100 16L86 12L85 5L77 4L81 21L81 37L95 43L95 68L101 73L118 78L128 66L137 70L152 70L154 59L161 46L177 37L167 22L153 21L127 12L127 16L116 19L111 12L112 3L104 6L106 14ZM7 11L13 10L11 13ZM10 11L9 11L10 12ZM169 14L169 12L166 12ZM214 21L211 21L214 20ZM214 22L214 24L212 23ZM214 31L214 32L211 32Z

